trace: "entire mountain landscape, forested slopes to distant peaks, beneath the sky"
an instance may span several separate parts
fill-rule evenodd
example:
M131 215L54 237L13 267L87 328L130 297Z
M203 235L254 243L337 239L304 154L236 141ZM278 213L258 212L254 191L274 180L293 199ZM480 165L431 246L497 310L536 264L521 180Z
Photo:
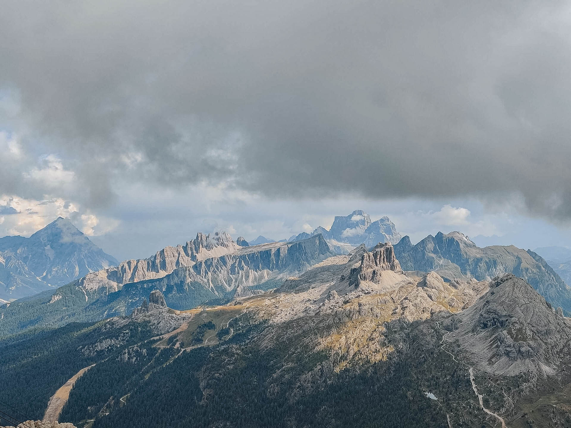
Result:
M198 233L6 301L0 411L79 428L569 426L571 290L538 254L564 251L393 244L362 211L320 231ZM78 271L90 244L63 219L33 237L10 251Z

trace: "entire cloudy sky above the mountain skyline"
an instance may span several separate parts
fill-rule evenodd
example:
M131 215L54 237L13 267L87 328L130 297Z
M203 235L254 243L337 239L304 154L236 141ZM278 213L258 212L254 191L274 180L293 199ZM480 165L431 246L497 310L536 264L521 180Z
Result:
M0 39L0 236L571 245L569 2L7 0Z

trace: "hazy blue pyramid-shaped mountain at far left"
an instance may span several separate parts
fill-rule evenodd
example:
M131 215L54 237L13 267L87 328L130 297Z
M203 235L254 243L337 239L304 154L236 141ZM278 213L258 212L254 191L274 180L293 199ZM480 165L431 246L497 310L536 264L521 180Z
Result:
M0 238L0 299L31 296L116 264L69 220L58 217L29 238Z

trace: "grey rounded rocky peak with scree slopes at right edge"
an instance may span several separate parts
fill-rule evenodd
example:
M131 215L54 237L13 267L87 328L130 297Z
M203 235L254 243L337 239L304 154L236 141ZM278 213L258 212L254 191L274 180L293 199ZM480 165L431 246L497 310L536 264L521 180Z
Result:
M457 337L489 372L553 374L569 351L571 324L512 273L493 278L489 292L459 317Z

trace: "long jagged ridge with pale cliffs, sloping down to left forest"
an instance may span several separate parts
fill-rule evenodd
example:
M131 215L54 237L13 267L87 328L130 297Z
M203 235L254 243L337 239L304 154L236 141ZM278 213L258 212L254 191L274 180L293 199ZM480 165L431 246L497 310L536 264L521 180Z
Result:
M180 310L259 293L331 255L321 235L295 243L239 247L226 233L199 233L184 247L168 247L149 259L126 261L55 292L0 306L0 337L38 324L59 326L128 314L152 289L159 289L172 308ZM131 278L136 281L127 282Z

